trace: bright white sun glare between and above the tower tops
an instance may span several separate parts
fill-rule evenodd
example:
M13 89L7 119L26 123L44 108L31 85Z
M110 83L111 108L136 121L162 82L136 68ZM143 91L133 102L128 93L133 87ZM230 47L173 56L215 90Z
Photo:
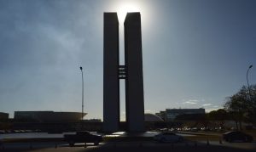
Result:
M128 12L140 12L140 8L138 8L135 4L124 3L117 10L117 14L119 17L119 24L123 24L125 21L125 16Z

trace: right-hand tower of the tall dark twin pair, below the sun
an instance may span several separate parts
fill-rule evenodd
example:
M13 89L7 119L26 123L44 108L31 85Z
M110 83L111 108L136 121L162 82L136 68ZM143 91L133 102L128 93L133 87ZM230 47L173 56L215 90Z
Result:
M125 18L125 108L130 132L144 130L143 53L141 14Z

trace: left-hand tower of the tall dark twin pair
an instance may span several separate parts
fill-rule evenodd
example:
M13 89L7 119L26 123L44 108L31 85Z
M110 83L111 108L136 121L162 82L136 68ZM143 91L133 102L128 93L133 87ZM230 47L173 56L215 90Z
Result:
M104 13L103 129L119 129L119 21L116 13Z

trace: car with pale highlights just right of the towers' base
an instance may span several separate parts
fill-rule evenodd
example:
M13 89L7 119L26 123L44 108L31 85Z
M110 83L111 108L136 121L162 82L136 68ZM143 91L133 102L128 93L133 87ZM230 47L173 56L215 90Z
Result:
M183 137L173 132L161 132L154 136L154 140L161 143L167 143L167 142L177 143L177 142L183 142Z

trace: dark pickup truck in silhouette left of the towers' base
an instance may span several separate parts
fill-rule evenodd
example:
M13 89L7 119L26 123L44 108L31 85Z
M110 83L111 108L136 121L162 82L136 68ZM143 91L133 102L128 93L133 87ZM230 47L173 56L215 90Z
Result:
M64 134L64 140L67 141L70 146L76 143L93 143L97 145L102 142L103 138L101 135L84 131L76 132L76 134Z

